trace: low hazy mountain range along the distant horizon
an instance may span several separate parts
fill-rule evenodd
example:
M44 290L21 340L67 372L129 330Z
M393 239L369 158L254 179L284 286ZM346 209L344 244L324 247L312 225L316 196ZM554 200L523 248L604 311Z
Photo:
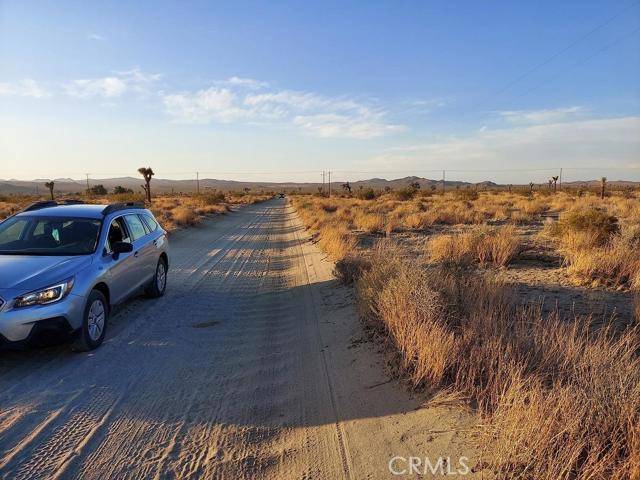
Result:
M0 193L2 194L33 194L44 193L46 188L44 184L51 181L50 179L38 178L31 181L26 180L0 180ZM56 178L53 179L55 183L55 191L60 193L80 193L87 188L86 180L74 180L72 178ZM398 189L406 187L412 183L419 183L422 189L430 189L432 186L436 188L442 185L442 180L431 180L422 177L404 177L395 180L387 180L385 178L371 178L369 180L360 180L357 182L351 182L353 190L357 190L362 187L371 187L374 189L382 190L387 187L392 189ZM90 179L89 185L103 185L107 190L111 191L116 186L129 188L135 192L142 192L143 181L141 178L135 177L119 177L119 178L102 178L102 179ZM331 186L334 190L341 190L341 186L344 181L331 182ZM599 185L599 180L591 180L585 182L565 182L566 186L580 186L580 185ZM630 182L624 180L617 180L608 182L609 185L615 185L617 187L638 187L640 182ZM467 186L478 185L480 188L496 188L506 187L506 185L499 185L491 181L484 181L479 183L461 182L455 180L445 181L445 187L447 189L453 188L465 188ZM249 188L252 191L317 191L318 187L322 186L322 183L295 183L295 182L242 182L234 180L218 180L214 178L204 178L200 180L200 190L243 190ZM160 193L190 193L197 190L196 180L170 180L163 178L154 178L151 182L152 191Z

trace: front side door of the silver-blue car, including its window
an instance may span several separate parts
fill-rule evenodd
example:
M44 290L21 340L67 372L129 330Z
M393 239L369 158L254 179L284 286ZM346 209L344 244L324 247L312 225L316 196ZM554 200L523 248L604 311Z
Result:
M124 217L111 220L105 241L103 262L109 276L112 303L120 303L131 295L139 286L139 272L134 252L114 254L112 246L115 242L133 243Z

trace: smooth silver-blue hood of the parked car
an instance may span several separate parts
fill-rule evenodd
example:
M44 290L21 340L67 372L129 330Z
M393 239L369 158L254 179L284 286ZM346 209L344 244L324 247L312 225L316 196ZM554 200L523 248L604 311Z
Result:
M0 289L31 291L66 280L91 264L90 255L0 255Z

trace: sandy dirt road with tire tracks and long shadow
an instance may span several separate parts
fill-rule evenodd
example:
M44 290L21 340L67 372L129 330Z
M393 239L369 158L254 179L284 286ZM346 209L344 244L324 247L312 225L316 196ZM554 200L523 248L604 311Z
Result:
M109 328L89 354L0 353L0 476L361 479L391 478L393 455L474 461L467 416L417 408L385 376L283 200L174 235L165 297Z

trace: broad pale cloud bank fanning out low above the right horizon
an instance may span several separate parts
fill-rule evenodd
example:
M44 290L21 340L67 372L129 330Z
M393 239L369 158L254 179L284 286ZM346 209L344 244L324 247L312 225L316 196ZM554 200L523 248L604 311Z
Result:
M484 129L428 143L388 149L368 166L504 169L625 167L640 155L640 117L574 120Z

